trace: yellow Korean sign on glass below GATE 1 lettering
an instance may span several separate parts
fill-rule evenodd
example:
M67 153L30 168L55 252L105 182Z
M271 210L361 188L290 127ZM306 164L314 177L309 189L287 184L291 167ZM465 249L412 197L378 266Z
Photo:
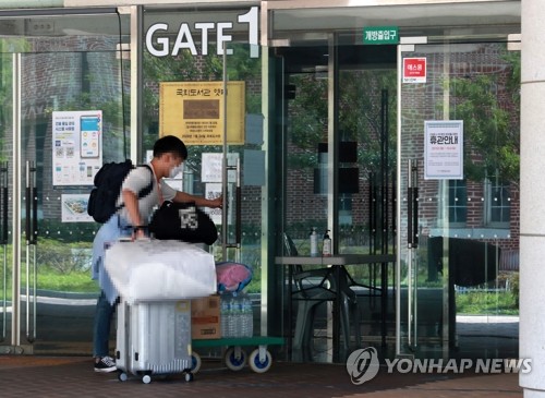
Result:
M159 93L159 136L187 145L222 145L223 82L165 82ZM244 144L244 82L227 83L227 143Z

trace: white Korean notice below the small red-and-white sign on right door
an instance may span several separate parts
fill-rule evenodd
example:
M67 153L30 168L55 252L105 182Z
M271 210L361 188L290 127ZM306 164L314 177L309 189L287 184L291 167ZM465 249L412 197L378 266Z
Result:
M463 120L424 122L424 179L463 179Z

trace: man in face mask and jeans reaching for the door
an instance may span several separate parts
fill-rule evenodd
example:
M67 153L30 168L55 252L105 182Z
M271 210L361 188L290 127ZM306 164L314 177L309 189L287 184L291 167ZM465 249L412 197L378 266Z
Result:
M93 355L95 372L113 372L116 361L109 357L108 341L110 325L114 312L118 292L104 268L105 250L122 237L143 238L146 226L156 206L164 201L195 202L198 207L221 207L222 198L207 200L201 196L175 191L162 181L164 178L175 177L182 162L187 158L185 144L173 135L167 135L156 141L154 158L149 162L152 171L146 167L137 167L126 176L118 205L124 204L98 230L93 242L93 279L98 280L100 296L97 300L95 324L93 328ZM152 192L138 200L138 192L149 186Z

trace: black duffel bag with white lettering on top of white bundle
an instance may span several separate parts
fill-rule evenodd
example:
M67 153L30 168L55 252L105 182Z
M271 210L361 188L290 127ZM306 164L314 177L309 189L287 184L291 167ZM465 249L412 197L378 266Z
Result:
M218 239L216 225L195 203L165 201L155 210L149 233L161 240L213 244Z

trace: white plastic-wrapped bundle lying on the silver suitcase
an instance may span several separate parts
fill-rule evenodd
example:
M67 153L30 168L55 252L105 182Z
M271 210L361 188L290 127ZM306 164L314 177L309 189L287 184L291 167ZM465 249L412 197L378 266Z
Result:
M214 256L181 241L117 242L106 251L105 268L129 303L206 297L217 289Z

